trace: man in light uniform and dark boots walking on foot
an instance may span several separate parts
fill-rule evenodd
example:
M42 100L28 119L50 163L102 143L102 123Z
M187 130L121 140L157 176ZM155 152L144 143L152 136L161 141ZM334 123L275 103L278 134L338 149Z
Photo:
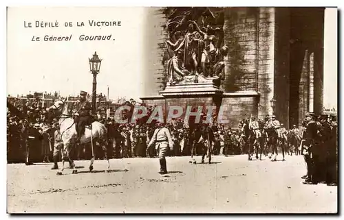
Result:
M173 141L169 130L164 127L164 123L159 123L154 134L149 141L148 148L155 143L155 149L159 151L160 174L166 174L166 153L173 150Z

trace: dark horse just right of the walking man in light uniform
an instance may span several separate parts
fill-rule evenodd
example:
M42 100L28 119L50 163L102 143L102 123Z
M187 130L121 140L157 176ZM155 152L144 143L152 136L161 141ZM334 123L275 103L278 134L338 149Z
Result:
M214 133L208 124L195 124L190 127L190 143L191 149L191 162L196 164L196 160L193 158L195 156L195 149L197 145L202 146L202 163L204 163L204 158L208 154L208 163L211 164L211 144L214 140Z

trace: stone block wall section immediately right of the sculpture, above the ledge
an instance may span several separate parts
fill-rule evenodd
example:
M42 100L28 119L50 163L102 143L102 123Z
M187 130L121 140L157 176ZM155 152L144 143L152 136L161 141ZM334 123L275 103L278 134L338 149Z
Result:
M228 46L225 60L225 92L257 90L257 8L226 8L224 45Z

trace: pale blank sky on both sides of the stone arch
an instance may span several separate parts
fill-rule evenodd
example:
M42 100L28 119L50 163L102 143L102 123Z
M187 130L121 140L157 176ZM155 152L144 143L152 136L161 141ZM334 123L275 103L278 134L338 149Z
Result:
M78 95L92 93L88 58L97 51L103 59L97 76L97 93L139 100L144 94L144 8L9 8L7 92L30 91ZM90 27L89 21L121 21L120 27ZM33 27L24 27L32 22ZM35 27L39 22L58 22L59 27ZM65 27L72 22L73 27ZM77 23L85 26L78 27ZM336 8L325 10L324 106L337 106ZM70 36L72 40L45 42L43 37ZM81 34L109 36L106 41L80 41ZM41 41L32 41L40 37ZM115 39L115 40L113 40Z

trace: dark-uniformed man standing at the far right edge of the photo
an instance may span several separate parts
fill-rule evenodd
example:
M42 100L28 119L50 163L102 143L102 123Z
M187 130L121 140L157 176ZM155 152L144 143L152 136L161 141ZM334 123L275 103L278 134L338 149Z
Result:
M337 186L337 117L334 114L330 115L331 132L329 145L327 147L327 171L326 183L327 186Z

